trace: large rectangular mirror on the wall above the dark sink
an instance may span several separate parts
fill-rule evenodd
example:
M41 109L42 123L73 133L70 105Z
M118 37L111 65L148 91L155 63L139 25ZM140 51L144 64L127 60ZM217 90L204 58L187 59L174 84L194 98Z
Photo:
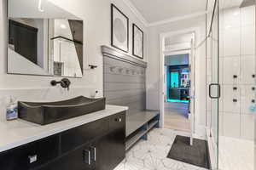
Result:
M83 20L54 0L8 1L8 73L83 77Z

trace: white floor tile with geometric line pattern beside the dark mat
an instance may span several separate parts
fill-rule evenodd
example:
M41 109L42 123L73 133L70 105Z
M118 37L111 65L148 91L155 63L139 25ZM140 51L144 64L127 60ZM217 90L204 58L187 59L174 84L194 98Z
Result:
M148 133L148 140L140 140L114 170L205 170L166 157L176 135L187 136L187 133L155 128Z

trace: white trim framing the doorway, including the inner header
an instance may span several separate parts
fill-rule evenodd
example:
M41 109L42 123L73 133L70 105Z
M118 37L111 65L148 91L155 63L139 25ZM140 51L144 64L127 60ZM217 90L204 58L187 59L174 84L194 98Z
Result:
M165 89L164 89L164 80L165 80L165 66L164 66L164 62L165 62L165 55L168 54L168 51L165 51L165 38L166 37L170 37L170 36L174 36L177 34L188 34L188 33L195 33L195 44L196 44L196 40L197 40L197 35L200 31L199 27L191 27L189 29L183 29L180 31L168 31L168 32L163 32L160 33L160 82L159 82L159 102L160 102L160 127L164 127L164 120L165 120ZM196 46L196 45L195 45ZM194 47L195 48L195 47ZM175 52L175 51L170 51L170 53L175 54L175 53L186 53L191 54L191 49L184 49L184 50L180 50L180 52ZM195 50L196 51L196 50ZM188 53L189 52L189 53ZM194 52L195 53L195 52ZM190 60L190 59L189 59ZM195 59L194 59L195 60ZM191 65L195 66L195 63L191 63ZM195 73L193 73L195 74ZM194 81L195 81L195 77L194 77ZM195 87L194 87L195 88ZM194 110L195 110L195 102L194 102ZM190 121L193 121L193 127L191 128L191 137L192 134L195 133L195 116L192 117L192 119Z

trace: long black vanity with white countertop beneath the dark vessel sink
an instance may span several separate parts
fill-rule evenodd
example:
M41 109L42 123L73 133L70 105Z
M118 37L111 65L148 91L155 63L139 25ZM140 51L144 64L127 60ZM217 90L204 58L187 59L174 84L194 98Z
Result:
M127 107L46 126L17 120L0 123L1 170L113 170L125 158Z

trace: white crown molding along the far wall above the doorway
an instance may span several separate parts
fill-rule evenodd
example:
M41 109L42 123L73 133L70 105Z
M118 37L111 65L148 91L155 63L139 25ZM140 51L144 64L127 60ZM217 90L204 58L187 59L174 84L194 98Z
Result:
M187 15L178 16L178 17L172 17L171 19L160 20L160 21L157 21L157 22L149 23L148 27L160 26L160 25L163 25L163 24L168 24L168 23L171 23L171 22L179 21L179 20L191 19L191 18L195 18L195 17L201 16L201 15L204 15L204 14L207 14L207 11L194 13L194 14L187 14Z

